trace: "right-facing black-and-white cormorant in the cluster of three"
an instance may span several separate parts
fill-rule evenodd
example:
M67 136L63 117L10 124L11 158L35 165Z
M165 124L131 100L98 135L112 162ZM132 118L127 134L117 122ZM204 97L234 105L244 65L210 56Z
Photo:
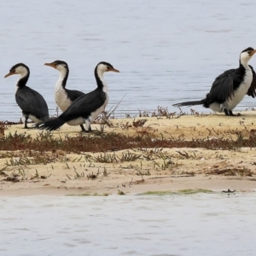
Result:
M90 131L90 123L105 110L108 105L108 84L106 84L103 73L118 72L108 62L100 62L95 68L94 74L96 78L97 88L84 96L80 96L67 108L66 111L56 118L40 124L40 129L53 131L67 123L68 125L85 124L85 130Z

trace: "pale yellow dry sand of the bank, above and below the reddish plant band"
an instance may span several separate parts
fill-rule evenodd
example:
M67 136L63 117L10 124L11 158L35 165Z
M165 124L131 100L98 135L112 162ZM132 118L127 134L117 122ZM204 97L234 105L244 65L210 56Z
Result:
M136 128L132 126L132 122L138 119L148 119L148 121L143 127ZM153 137L172 136L186 140L195 137L215 139L236 137L236 131L243 131L244 135L248 136L256 127L256 112L246 111L236 117L208 114L174 116L172 119L166 119L166 117L111 119L111 122L113 127L106 127L105 132L151 133ZM99 130L100 125L92 125L92 129ZM11 125L5 134L15 131L26 132L32 136L40 132L34 129L24 130L23 125ZM63 125L59 131L54 131L54 135L57 137L66 134L76 136L79 131L79 126ZM254 176L241 176L241 173L255 172L255 148L240 148L236 151L204 148L162 148L160 151L160 148L152 148L151 152L150 149L135 151L130 149L115 152L115 154L121 158L122 154L128 151L141 155L141 157L137 161L100 163L93 159L89 161L84 154L66 154L60 150L55 161L48 165L8 166L1 176L0 195L117 195L121 192L131 195L147 191L180 189L211 189L214 191L226 189L253 191L256 189ZM102 153L87 152L86 154L96 157ZM184 156L185 154L187 156ZM22 152L15 152L17 160L22 155ZM146 156L150 156L150 160L147 160ZM6 166L9 160L9 158L1 158L0 169ZM162 166L165 167L162 168ZM213 174L216 171L232 172L235 175ZM5 175L11 177L20 172L24 177L21 175L17 177L19 182L6 181ZM92 172L98 173L94 180L87 177ZM106 173L108 176L104 175Z

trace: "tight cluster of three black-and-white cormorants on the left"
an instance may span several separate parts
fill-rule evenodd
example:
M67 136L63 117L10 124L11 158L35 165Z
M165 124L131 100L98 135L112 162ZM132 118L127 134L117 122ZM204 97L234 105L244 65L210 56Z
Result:
M94 74L97 87L95 90L85 94L79 90L66 89L68 78L68 66L65 61L53 61L45 63L46 66L54 67L60 72L60 78L55 85L55 102L61 108L61 115L56 119L49 119L49 111L44 97L36 90L26 86L30 71L23 63L11 67L7 78L14 74L20 74L16 86L15 99L22 110L24 118L24 128L27 127L27 119L32 119L36 123L35 127L53 131L67 123L68 125L80 125L82 131L91 131L90 123L104 111L108 105L108 84L106 84L103 73L119 70L113 68L108 62L102 61L96 65ZM85 124L85 129L83 124Z

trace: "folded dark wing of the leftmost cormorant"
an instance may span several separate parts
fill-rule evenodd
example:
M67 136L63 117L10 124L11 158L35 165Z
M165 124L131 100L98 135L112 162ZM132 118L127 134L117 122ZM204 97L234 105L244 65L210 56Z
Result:
M48 106L38 91L27 86L20 88L16 91L15 99L22 111L31 113L39 119L44 117L49 119Z

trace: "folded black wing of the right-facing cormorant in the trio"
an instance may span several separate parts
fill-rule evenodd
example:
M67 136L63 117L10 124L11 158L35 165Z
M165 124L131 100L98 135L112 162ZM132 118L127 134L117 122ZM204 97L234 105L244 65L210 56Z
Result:
M107 95L102 90L93 90L90 93L80 96L75 100L66 111L61 113L60 118L66 121L83 117L88 118L91 112L100 108L106 101Z

